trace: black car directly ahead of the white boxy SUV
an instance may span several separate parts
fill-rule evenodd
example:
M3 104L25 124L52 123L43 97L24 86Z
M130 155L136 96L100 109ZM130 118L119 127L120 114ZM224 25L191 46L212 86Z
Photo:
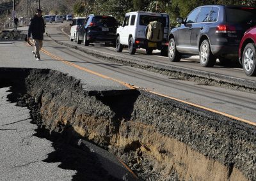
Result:
M116 42L116 28L118 22L114 17L102 15L88 15L84 24L79 27L77 44L83 41L84 46L93 42L105 42L106 45Z

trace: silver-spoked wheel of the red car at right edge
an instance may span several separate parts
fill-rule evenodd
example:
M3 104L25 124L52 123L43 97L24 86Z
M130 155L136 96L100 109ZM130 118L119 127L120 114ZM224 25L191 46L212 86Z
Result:
M256 46L254 43L248 43L243 51L243 69L247 76L256 75Z

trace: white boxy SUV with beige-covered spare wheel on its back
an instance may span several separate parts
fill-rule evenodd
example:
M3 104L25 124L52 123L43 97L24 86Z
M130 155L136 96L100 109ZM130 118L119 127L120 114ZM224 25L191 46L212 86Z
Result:
M147 29L151 22L161 23L163 34L160 41L147 39ZM153 50L158 49L161 50L161 55L167 55L169 29L167 13L126 13L123 24L116 30L116 51L122 52L123 47L128 47L129 54L135 54L136 48L145 48L147 54L152 54Z

